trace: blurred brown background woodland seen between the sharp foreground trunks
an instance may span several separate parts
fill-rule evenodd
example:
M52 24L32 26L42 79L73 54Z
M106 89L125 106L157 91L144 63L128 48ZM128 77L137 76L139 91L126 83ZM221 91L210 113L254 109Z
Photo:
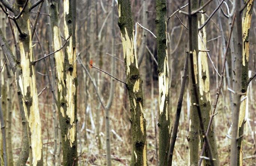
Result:
M12 3L12 0L9 0ZM35 3L36 0L30 0ZM35 35L32 40L32 47L35 59L53 52L49 39L50 12L48 7L50 1L44 0L41 13L37 18L38 7L30 11L30 21L34 24L38 19ZM212 1L203 11L207 19L216 8L216 1ZM105 110L102 108L94 89L91 79L88 77L84 67L89 70L93 82L97 86L99 96L107 103L110 96L111 77L97 68L111 73L117 79L126 82L125 64L123 61L123 47L118 27L118 4L112 0L79 0L76 2L76 56L77 62L77 160L78 165L106 165L106 144L105 144ZM147 7L143 7L144 4ZM188 2L185 0L167 0L167 18L179 7ZM64 12L63 1L59 5L58 24L60 28L61 44L65 44ZM255 5L254 5L255 6ZM252 10L250 28L250 56L248 69L251 73L256 72L256 10ZM144 118L146 119L146 141L148 165L158 163L158 71L157 71L157 40L149 32L145 31L139 24L157 34L156 31L156 3L153 0L131 0L131 9L134 23L134 33L136 40L137 57L139 62L140 77L143 80L144 97ZM231 12L232 1L226 0L221 5L224 13ZM111 13L114 10L114 33L112 34ZM182 9L187 12L188 8ZM143 12L147 15L143 17ZM206 47L209 50L209 89L211 94L211 105L214 103L215 94L218 88L220 73L223 63L223 39L227 44L229 37L229 24L223 12L217 12L205 26ZM8 18L3 10L0 11L0 26L5 31L5 38L15 53L14 40ZM144 20L143 20L144 19ZM146 20L145 20L146 19ZM137 24L138 22L138 24ZM220 23L222 24L220 28ZM184 25L182 25L184 24ZM15 24L14 24L15 27ZM176 114L176 106L181 88L182 72L186 51L188 50L188 27L187 16L177 12L167 22L167 50L169 59L169 101L170 101L170 127L173 126ZM18 41L18 30L15 27L15 34ZM222 33L224 37L222 36ZM115 55L112 55L111 41L115 37ZM143 38L145 39L143 40ZM54 41L56 42L56 41ZM236 46L235 46L236 47ZM62 51L62 50L60 50ZM229 154L231 144L231 102L229 81L233 86L232 58L230 51L227 55L227 68L229 80L224 74L223 87L214 116L215 135L217 142L220 165L229 165ZM1 50L1 65L5 62L5 56ZM115 72L111 72L111 59L114 58ZM56 60L56 59L55 59ZM38 93L39 113L42 130L42 151L44 165L62 165L61 133L58 120L58 111L54 103L52 90L57 95L56 82L53 80L56 72L55 65L52 65L54 56L49 56L45 60L35 64L36 87ZM92 64L94 67L92 67ZM213 65L214 64L214 65ZM8 63L6 62L6 66ZM1 86L3 93L8 93L8 101L2 100L2 110L7 108L11 113L11 137L13 160L16 161L21 152L23 130L21 125L21 115L17 96L15 76L6 66L1 72ZM214 66L216 69L214 69ZM8 78L8 79L7 79ZM50 80L50 81L49 81ZM125 84L114 80L113 102L109 108L110 122L110 147L112 165L130 165L131 159L131 123L130 123L130 103L128 91ZM51 84L51 85L50 85ZM173 155L173 165L188 165L188 131L190 114L189 80L185 86L184 100L182 104L179 129ZM51 87L53 86L53 87ZM256 165L256 79L252 80L248 86L247 110L245 113L245 128L243 135L243 165ZM231 88L232 89L232 88ZM7 102L7 103L6 103ZM8 104L9 103L9 104ZM6 123L10 123L7 121ZM27 162L29 164L29 162Z

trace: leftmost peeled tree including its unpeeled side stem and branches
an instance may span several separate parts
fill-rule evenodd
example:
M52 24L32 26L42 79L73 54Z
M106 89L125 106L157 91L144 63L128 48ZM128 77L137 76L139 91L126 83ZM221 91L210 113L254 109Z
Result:
M2 3L15 14L12 19L20 33L18 43L20 52L17 53L18 63L9 49L8 44L6 44L3 34L1 34L1 42L3 43L2 49L6 56L8 54L7 59L11 68L14 73L16 72L17 74L18 98L23 124L23 148L17 161L17 165L25 165L29 153L30 162L33 165L42 165L41 120L38 108L35 63L33 63L32 30L30 29L29 20L31 4L28 1L25 2L23 0L16 0L14 5L10 4L8 1L2 1ZM22 9L19 10L19 8Z

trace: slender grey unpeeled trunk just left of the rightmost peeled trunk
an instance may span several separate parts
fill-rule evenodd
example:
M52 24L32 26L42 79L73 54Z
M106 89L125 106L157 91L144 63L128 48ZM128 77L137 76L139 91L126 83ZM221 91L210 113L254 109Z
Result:
M239 125L239 109L241 104L241 76L242 76L242 16L241 16L241 1L236 0L236 39L237 46L235 52L235 68L233 68L233 72L235 73L234 78L234 110L232 113L232 141L231 141L231 154L230 154L230 164L235 166L238 164L237 154L238 154L238 125Z

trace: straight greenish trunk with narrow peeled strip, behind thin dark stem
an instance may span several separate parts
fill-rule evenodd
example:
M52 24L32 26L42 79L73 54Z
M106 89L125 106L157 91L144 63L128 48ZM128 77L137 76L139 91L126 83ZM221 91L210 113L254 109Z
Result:
M198 8L198 0L191 1L191 11ZM198 151L199 151L199 117L197 113L196 96L193 90L192 77L196 81L196 86L198 89L199 79L198 79L198 18L197 14L191 16L191 32L192 32L192 49L190 50L193 55L193 64L189 63L189 68L191 65L194 66L194 73L189 70L189 86L190 86L190 123L189 123L189 135L188 135L188 146L189 146L189 165L198 165ZM190 55L190 56L191 56ZM190 61L189 61L190 62Z

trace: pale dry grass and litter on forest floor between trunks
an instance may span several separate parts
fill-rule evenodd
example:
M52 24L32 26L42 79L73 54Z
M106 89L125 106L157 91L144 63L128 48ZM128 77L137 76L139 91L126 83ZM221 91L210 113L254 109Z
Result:
M155 88L155 94L157 94L157 89ZM211 94L214 94L212 90ZM42 95L43 96L43 95ZM156 155L156 135L158 138L158 133L155 133L155 125L157 124L157 95L154 95L154 98L151 99L150 93L146 93L146 102L145 102L145 119L146 119L146 129L147 129L147 155L148 155L148 165L155 166L157 165L157 156ZM173 95L175 96L175 95ZM212 99L214 96L212 96ZM217 137L217 146L218 153L220 157L220 165L228 166L229 165L229 154L230 154L230 122L231 114L230 109L226 106L228 99L220 97L220 100L217 105L218 114L214 117L215 124L215 135ZM92 100L95 103L90 103L92 108L88 113L87 126L84 126L84 110L85 108L78 108L78 163L81 166L104 166L106 165L105 160L105 120L104 112L100 111L99 115L96 114L96 109L98 104L97 101ZM110 112L110 125L111 125L111 158L112 165L114 166L125 166L130 165L130 153L131 153L131 132L130 132L130 122L129 122L129 112L123 107L123 99L121 96L116 95L116 102ZM50 102L50 100L49 100ZM212 101L213 103L213 101ZM252 112L256 110L256 103L250 102L250 109ZM172 100L173 107L171 110L171 126L175 119L176 112L176 101ZM187 93L185 93L183 108L180 119L180 126L178 130L178 138L175 144L174 157L173 157L173 166L186 166L188 165L188 108L187 108ZM22 144L22 129L20 125L20 114L17 109L17 105L14 106L13 112L13 135L12 135L12 148L14 153L14 161L17 160L18 154L21 150ZM51 104L41 104L40 105L41 117L42 117L42 132L44 134L43 139L43 155L45 165L53 165L53 154L54 154L54 130L53 130L53 111ZM89 116L92 113L92 116ZM50 114L50 116L49 116ZM46 116L47 115L47 116ZM90 117L92 119L90 119ZM96 117L99 118L99 135L100 135L100 145L99 139L96 135L97 122ZM249 122L245 123L245 132L244 132L244 144L243 144L243 153L244 153L244 165L245 166L255 166L256 165L256 144L255 137L252 135L252 130L255 130L255 116L248 116ZM93 120L94 119L94 120ZM154 123L154 120L156 123ZM253 124L254 122L254 124ZM250 125L248 125L250 124ZM85 128L87 129L85 141ZM52 130L48 130L52 129ZM158 129L157 129L158 132ZM254 138L253 138L254 137ZM58 141L59 142L59 141ZM158 141L157 141L158 142ZM199 144L200 145L200 144ZM59 147L59 144L58 144ZM100 147L100 149L99 149ZM199 151L200 153L200 151ZM56 161L61 159L61 157L56 156ZM47 164L46 164L47 163ZM29 165L29 163L28 163ZM61 165L61 163L60 163Z

